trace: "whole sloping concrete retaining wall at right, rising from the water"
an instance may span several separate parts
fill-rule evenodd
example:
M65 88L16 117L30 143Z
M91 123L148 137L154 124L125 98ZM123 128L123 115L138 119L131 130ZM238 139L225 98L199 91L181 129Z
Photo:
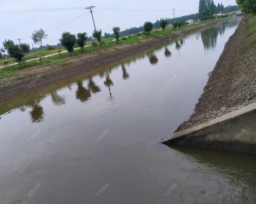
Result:
M160 142L256 154L256 104L170 134Z

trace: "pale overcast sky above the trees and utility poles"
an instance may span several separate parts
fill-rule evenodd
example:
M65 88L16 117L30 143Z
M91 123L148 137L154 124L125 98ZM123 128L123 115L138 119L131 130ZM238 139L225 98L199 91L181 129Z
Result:
M221 2L224 6L236 5L236 0L215 0L216 4ZM182 16L197 13L199 6L199 0L0 0L0 3L0 10L88 7L93 5L96 6L94 9L96 27L101 29L102 33L110 33L114 26L119 26L121 30L124 30L130 27L139 27L144 21L154 22L161 17L173 17L172 10L159 10L176 8L176 16ZM111 9L102 10L102 8L118 8L129 11L111 11ZM131 11L136 9L154 11ZM87 32L89 35L92 35L93 31L91 14L87 10L39 13L0 12L0 23L0 47L2 47L4 39L18 42L15 39L22 38L22 42L31 44L31 33L40 28L47 31L48 34L48 39L43 44L57 44L63 31L69 31L73 34Z

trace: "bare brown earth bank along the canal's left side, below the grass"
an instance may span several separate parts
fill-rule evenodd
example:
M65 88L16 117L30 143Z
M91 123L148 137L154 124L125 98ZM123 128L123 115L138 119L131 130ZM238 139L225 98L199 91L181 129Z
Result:
M141 52L148 48L158 46L161 43L165 43L170 39L175 40L182 35L196 32L226 19L219 19L205 24L193 25L187 29L181 29L178 32L173 32L168 36L142 39L137 43L117 45L111 48L98 50L97 52L61 60L56 63L18 70L15 72L16 75L0 79L0 98L5 98L17 92L21 92L41 84L46 84L75 72L91 69L104 63L129 56L133 53Z

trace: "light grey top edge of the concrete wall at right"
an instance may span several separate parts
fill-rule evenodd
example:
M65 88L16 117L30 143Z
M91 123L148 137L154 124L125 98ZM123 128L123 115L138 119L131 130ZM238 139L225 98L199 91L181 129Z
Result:
M202 130L202 129L205 129L205 128L207 129L207 127L209 127L211 125L218 124L220 122L229 120L231 118L238 117L240 115L243 115L243 114L245 114L247 112L250 112L252 110L255 110L255 109L256 109L256 103L250 104L250 105L248 105L246 107L243 107L239 110L227 113L225 115L222 115L218 118L212 119L208 122L202 123L200 125L190 127L189 129L186 129L186 130L183 130L183 131L180 131L180 132L172 133L172 134L168 135L167 137L160 139L158 142L159 143L164 143L164 142L167 142L169 140L176 139L178 137L182 137L182 136L185 136L185 135L188 135L188 134L191 134L191 133L195 133L195 132L197 132L199 130Z

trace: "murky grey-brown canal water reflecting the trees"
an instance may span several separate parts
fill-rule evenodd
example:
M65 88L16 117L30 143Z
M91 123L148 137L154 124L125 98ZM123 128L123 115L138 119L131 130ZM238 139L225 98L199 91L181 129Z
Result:
M0 203L255 203L256 156L169 148L232 19L0 104Z

